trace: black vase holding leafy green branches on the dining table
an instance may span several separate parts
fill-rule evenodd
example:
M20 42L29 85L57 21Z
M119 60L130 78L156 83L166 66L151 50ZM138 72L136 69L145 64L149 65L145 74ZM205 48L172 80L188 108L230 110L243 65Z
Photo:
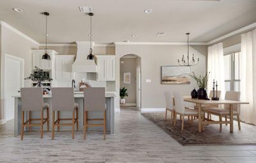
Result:
M207 86L209 73L205 73L205 76L196 76L193 72L193 74L190 74L189 76L191 76L196 81L196 84L199 87L199 89L197 90L198 99L207 99L207 92L205 90L205 87Z

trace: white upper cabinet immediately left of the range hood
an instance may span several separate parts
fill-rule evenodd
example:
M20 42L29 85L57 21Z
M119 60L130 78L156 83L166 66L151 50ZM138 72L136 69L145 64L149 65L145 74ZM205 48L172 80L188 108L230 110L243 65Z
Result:
M57 81L72 81L72 64L75 55L56 55L55 56L55 72Z

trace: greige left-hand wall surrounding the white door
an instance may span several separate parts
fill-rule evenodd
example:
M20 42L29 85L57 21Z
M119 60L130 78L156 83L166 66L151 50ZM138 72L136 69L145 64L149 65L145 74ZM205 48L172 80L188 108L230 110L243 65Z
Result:
M1 106L0 106L0 120L4 118L4 55L7 53L15 57L24 59L24 76L29 76L32 67L32 53L31 49L38 49L39 46L28 39L23 38L19 34L10 31L3 25L1 27ZM24 82L25 87L30 86L30 81Z

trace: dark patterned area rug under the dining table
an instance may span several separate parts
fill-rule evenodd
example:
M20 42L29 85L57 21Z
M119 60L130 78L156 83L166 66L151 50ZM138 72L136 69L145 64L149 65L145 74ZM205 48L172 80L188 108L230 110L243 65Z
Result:
M168 113L170 114L170 113ZM164 120L164 113L141 113L145 118L161 127L172 138L176 139L181 145L256 145L256 126L241 123L241 131L238 130L237 122L234 121L234 132L229 132L229 125L205 125L205 131L198 132L198 120L193 124L188 123L185 118L184 131L181 131L181 122L177 116L177 124L171 124L170 117Z

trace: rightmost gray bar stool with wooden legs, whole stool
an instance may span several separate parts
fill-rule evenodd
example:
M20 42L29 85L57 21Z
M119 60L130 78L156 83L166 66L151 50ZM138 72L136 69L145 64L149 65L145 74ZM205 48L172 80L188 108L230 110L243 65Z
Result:
M102 111L103 118L88 118L88 111ZM88 124L89 120L103 120L103 124ZM106 139L106 97L105 88L84 89L84 140L87 127L103 126L103 139Z

